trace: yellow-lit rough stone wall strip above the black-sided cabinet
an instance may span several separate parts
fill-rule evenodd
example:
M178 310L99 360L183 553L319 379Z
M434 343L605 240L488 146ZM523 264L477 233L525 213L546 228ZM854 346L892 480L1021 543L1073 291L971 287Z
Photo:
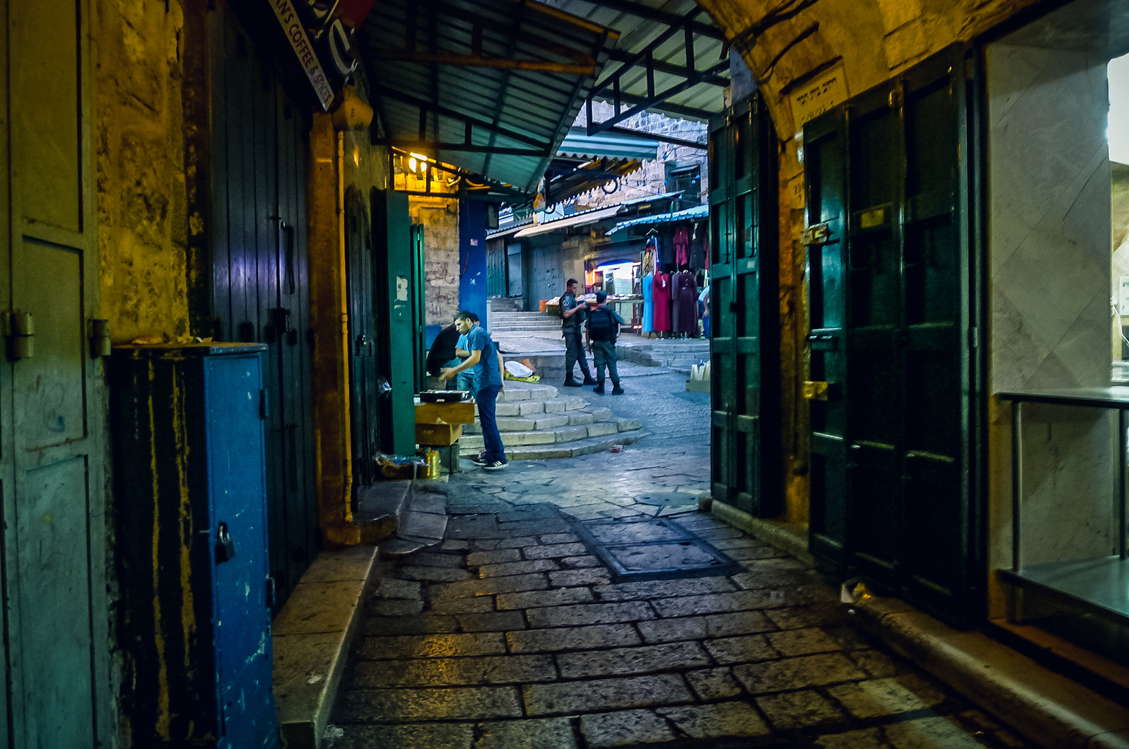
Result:
M94 7L100 315L115 341L175 338L189 332L183 8Z

